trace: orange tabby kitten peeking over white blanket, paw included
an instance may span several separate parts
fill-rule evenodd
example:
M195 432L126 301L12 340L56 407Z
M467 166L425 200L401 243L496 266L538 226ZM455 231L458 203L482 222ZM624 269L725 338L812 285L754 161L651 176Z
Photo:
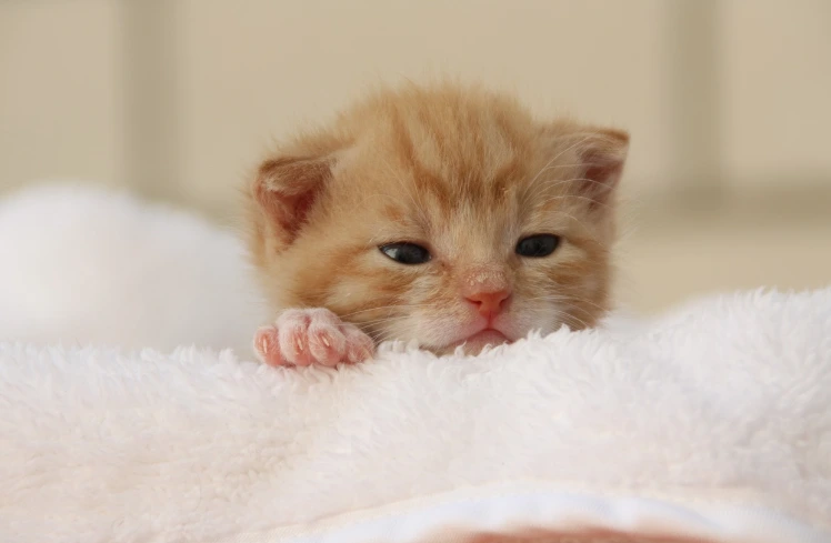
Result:
M258 355L331 366L386 340L475 354L594 325L628 142L451 84L383 90L298 137L247 191L278 315L256 333Z

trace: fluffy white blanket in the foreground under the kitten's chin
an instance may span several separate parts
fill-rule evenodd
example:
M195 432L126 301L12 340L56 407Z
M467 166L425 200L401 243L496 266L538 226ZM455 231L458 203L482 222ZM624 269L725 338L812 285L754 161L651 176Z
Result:
M0 344L0 541L831 541L831 289L339 370Z

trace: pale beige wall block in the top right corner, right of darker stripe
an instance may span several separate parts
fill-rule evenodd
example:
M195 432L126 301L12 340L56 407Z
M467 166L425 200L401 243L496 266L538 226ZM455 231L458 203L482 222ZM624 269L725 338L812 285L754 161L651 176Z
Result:
M724 163L752 188L831 184L831 2L723 2Z

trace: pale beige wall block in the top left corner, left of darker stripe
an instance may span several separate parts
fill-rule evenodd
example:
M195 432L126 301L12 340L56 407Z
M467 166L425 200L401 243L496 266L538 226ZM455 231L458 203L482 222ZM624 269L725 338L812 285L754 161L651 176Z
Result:
M119 4L0 2L0 189L124 179Z

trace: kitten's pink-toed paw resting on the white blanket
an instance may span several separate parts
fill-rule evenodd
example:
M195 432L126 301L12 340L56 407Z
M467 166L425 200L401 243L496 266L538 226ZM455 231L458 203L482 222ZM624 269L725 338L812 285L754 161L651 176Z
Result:
M254 351L270 365L353 364L372 356L372 339L328 309L290 309L254 334Z

